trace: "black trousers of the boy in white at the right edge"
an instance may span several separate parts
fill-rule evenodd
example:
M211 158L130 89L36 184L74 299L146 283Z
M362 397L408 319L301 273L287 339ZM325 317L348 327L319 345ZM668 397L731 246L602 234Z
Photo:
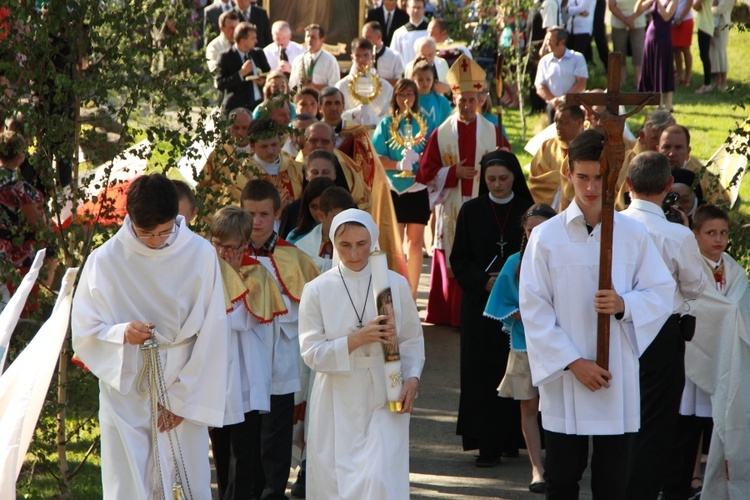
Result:
M662 470L664 500L686 500L690 493L698 442L710 417L680 415L677 419L672 446ZM710 435L710 434L708 434ZM708 438L706 438L708 439Z

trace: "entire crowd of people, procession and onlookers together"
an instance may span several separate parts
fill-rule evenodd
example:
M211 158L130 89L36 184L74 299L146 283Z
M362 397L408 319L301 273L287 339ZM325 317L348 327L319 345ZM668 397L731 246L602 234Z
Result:
M530 491L577 498L593 436L596 498L687 499L708 449L706 498L740 498L748 280L725 252L729 194L671 113L675 82L690 82L691 2L609 2L615 50L630 44L639 88L664 102L624 141L603 290L604 110L564 99L603 92L587 88L600 4L538 5L533 86L555 127L528 180L487 72L445 19L428 18L429 2L373 6L350 66L327 51L330 26L308 24L299 44L252 0L205 6L228 140L189 182L132 182L127 217L87 260L73 304L76 355L100 380L105 497L180 483L210 498L210 445L224 499L287 498L292 467L294 497L408 498L429 254L424 321L460 328L457 434L477 467L526 448ZM692 5L714 75L699 93L726 87L722 8ZM3 171L20 168L24 146L0 135ZM36 222L40 194L15 175L6 184L11 215ZM390 268L386 314L376 250ZM598 315L612 332L606 369L594 361ZM389 402L394 347L401 390Z

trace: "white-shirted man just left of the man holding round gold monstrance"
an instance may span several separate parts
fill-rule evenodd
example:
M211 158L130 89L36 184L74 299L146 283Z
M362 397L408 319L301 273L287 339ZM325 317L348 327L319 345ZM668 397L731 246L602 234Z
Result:
M305 28L307 52L292 64L289 87L309 85L315 90L322 90L339 81L339 63L335 57L323 50L325 39L326 32L319 24L311 24Z

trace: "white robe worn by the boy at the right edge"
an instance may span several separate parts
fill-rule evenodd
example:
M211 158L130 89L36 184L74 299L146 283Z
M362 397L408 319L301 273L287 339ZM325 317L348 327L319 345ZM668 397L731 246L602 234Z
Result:
M726 253L722 261L726 286L718 291L710 284L696 301L695 336L685 344L685 375L711 395L713 406L701 494L744 499L750 491L750 293L742 266ZM706 262L704 272L714 281Z

